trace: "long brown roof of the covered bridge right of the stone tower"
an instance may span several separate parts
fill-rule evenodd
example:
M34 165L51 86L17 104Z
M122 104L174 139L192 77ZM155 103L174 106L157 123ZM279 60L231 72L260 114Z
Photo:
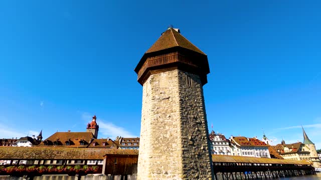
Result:
M304 160L286 160L274 158L260 157L244 157L237 155L212 155L213 162L236 162L236 163L270 163L270 164L302 164L311 165L310 162Z

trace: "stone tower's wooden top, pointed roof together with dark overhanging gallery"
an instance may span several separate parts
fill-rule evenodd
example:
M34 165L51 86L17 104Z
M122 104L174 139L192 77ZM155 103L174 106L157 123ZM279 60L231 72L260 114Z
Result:
M137 81L142 85L151 73L177 68L198 74L202 85L210 73L207 55L185 38L179 29L168 28L144 53L136 65Z

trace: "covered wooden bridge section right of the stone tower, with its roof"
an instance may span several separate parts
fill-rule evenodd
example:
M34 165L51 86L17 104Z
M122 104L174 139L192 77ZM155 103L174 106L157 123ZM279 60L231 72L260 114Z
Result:
M311 162L212 155L215 179L263 179L314 174Z

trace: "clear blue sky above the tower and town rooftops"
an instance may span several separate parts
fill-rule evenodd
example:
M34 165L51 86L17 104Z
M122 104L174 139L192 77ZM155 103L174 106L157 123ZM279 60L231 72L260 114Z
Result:
M321 148L321 11L295 0L0 1L0 136L139 136L133 68L168 25L208 54L209 127ZM35 134L37 135L37 134ZM0 137L0 138L1 138Z

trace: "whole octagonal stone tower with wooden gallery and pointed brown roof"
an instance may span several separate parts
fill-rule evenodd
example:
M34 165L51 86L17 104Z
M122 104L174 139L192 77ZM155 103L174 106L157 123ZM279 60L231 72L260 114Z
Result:
M214 179L203 95L207 55L170 27L135 72L143 86L137 179Z

